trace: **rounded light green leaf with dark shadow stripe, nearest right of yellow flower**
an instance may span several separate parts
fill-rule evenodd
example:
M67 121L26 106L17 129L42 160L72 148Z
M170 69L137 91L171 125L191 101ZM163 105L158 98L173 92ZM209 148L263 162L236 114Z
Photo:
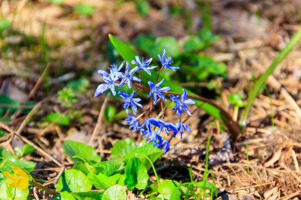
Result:
M64 171L58 183L54 185L59 191L80 192L90 190L88 177L81 171L68 169Z

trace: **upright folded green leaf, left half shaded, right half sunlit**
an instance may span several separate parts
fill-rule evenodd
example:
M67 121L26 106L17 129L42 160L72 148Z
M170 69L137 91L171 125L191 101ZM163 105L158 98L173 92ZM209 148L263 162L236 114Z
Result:
M144 164L137 158L132 157L125 167L124 184L129 190L144 189L147 185L148 174Z

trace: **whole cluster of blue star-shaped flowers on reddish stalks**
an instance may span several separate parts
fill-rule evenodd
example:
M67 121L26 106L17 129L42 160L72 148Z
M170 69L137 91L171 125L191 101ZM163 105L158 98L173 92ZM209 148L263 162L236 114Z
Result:
M180 67L171 65L173 63L172 57L167 56L165 49L163 55L159 54L158 56L159 60L161 61L162 67L158 72L156 82L154 83L150 80L147 82L149 87L145 87L141 83L142 70L151 75L152 73L150 72L150 70L157 68L158 66L149 66L153 58L144 60L143 57L140 59L139 56L135 56L135 60L132 60L131 63L135 64L136 66L132 69L130 69L129 62L123 61L119 66L112 64L111 67L108 68L110 73L104 70L98 70L97 72L102 76L104 82L98 85L94 97L99 96L108 89L111 90L113 95L116 95L115 86L121 87L123 84L127 84L129 88L131 88L132 86L137 87L138 90L136 92L133 91L131 94L118 91L118 95L123 98L123 100L121 100L122 106L124 109L126 109L126 113L128 115L128 118L125 119L125 121L128 123L129 128L131 128L132 131L139 130L143 135L143 138L148 139L147 142L152 142L154 146L162 148L164 150L164 153L166 153L170 149L170 142L162 136L163 132L165 132L167 135L170 135L170 133L172 132L173 137L176 137L176 135L180 132L181 138L185 130L191 132L190 127L184 123L185 121L181 121L181 115L183 113L183 110L191 115L191 112L189 111L187 105L192 105L196 102L192 99L187 99L188 94L185 89L183 89L183 94L181 96L175 96L168 93L168 91L170 90L169 86L161 87L161 84L164 82L164 79L158 82L161 71L164 68L172 69L175 71ZM124 62L126 67L124 72L121 72ZM139 71L139 78L134 76L134 73L137 70ZM136 82L139 82L139 84L137 84ZM149 94L147 95L147 97L152 98L152 101L150 101L150 107L142 111L142 113L136 117L136 114L138 113L137 107L141 109L143 108L143 105L139 103L141 99L135 97L136 93L140 90L148 91ZM163 106L163 100L168 101L167 97L170 98L170 102L174 102L175 104L172 109L177 110L176 115L180 118L178 123L174 124L165 121L164 111L166 108L164 108ZM162 108L162 114L161 116L157 116L155 118L152 117L152 108L153 104L156 105L159 101ZM133 115L130 115L128 113L129 108L132 110ZM147 111L149 112L149 117L146 118L142 124L140 124L139 118L143 116Z

